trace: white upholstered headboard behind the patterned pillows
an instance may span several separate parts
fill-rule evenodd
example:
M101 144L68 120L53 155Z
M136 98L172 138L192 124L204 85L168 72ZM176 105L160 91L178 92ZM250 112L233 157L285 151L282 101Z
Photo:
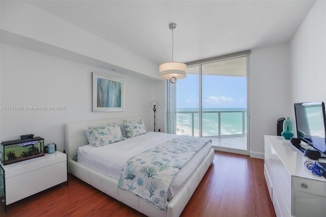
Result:
M121 132L125 136L125 129L123 127L122 121L123 119L139 120L141 119L141 117L113 118L66 123L65 142L68 160L72 159L75 155L77 155L77 150L79 146L88 144L88 140L85 135L85 129L88 129L88 126L103 126L108 123L118 122L120 124Z

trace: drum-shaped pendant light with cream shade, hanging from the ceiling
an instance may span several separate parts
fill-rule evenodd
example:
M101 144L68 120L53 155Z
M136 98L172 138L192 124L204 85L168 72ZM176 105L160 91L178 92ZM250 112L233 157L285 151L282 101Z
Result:
M169 29L172 30L172 62L162 63L159 65L159 77L169 79L171 83L176 83L177 79L185 78L187 66L184 63L173 61L173 30L177 27L177 24L171 23Z

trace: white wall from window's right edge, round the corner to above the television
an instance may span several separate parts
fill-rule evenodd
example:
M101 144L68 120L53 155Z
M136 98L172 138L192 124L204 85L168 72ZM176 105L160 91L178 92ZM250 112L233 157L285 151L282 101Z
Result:
M263 158L264 134L294 102L326 101L326 2L316 1L288 45L252 50L251 156Z

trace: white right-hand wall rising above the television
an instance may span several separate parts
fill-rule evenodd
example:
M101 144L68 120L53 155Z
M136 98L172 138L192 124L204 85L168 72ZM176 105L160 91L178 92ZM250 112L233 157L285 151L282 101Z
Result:
M316 1L290 42L291 104L326 101L325 14L326 2Z

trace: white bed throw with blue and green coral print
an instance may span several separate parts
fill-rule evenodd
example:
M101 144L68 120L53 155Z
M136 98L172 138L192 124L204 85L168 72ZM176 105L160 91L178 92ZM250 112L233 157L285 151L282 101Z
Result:
M179 136L137 154L125 163L118 186L166 210L173 178L209 142Z

